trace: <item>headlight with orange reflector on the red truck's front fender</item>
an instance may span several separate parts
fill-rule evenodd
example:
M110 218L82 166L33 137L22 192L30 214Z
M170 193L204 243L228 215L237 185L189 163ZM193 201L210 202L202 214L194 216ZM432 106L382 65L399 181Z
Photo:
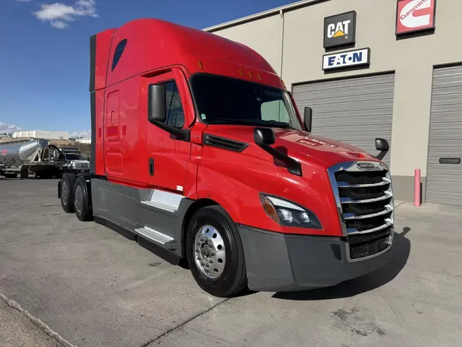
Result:
M266 214L281 226L322 229L318 217L307 208L270 195L260 194L260 199Z

